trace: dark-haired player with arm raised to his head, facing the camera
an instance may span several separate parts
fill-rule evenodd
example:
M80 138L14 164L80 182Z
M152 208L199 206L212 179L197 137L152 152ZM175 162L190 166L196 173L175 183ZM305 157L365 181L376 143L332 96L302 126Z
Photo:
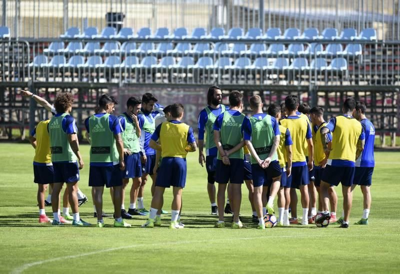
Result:
M139 193L137 195L137 211L144 215L148 215L149 213L144 208L143 204L143 192L144 186L147 182L147 176L150 175L152 180L151 195L154 195L154 184L156 180L156 176L153 174L155 164L155 150L149 147L148 144L150 142L151 135L153 134L155 129L155 119L158 116L163 115L162 106L157 104L156 102L157 98L155 98L154 95L152 95L151 93L144 93L141 97L141 109L139 114L137 115L138 120L143 119L144 121L143 123L139 123L141 130L140 142L144 153L140 152L142 177ZM166 214L167 212L162 213Z

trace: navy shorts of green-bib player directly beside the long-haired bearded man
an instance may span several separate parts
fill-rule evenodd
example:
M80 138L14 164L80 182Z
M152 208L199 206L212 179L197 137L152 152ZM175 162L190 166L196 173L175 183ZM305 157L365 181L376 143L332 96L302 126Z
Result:
M222 160L216 160L215 182L218 184L243 184L244 160L229 159L230 165L224 165Z

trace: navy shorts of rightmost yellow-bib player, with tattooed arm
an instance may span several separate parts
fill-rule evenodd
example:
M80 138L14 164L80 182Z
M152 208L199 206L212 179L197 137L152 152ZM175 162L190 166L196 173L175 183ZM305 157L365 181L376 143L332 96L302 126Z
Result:
M351 187L354 180L355 167L335 167L326 165L322 174L322 181L337 186L341 183L343 186Z

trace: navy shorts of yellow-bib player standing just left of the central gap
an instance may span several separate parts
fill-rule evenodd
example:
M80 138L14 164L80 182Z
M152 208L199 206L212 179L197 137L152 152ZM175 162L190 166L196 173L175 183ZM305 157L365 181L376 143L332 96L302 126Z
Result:
M186 159L180 157L165 157L161 160L158 170L156 187L184 188L186 184Z

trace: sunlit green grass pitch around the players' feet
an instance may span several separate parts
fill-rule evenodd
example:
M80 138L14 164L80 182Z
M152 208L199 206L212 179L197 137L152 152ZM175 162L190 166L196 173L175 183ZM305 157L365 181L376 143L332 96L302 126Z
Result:
M80 189L89 197L88 149L81 146L85 167ZM214 229L206 193L206 172L189 154L183 191L183 230L169 230L170 215L162 227L139 228L145 217L129 220L132 228L98 229L52 227L38 223L37 187L33 181L34 151L28 144L0 144L0 272L1 273L398 273L400 267L400 153L375 153L372 207L368 226L324 229L292 225L259 231L251 223L247 189L243 185L241 215L245 229ZM151 184L151 179L149 180ZM337 212L341 212L342 195ZM171 191L165 191L164 209L170 211ZM150 185L145 207L149 208ZM112 212L108 192L104 210ZM125 207L128 206L125 201ZM276 208L276 205L275 205ZM83 220L95 224L90 202L79 208ZM51 216L51 208L46 207ZM354 192L350 224L362 214L362 195ZM226 224L229 226L231 217Z

